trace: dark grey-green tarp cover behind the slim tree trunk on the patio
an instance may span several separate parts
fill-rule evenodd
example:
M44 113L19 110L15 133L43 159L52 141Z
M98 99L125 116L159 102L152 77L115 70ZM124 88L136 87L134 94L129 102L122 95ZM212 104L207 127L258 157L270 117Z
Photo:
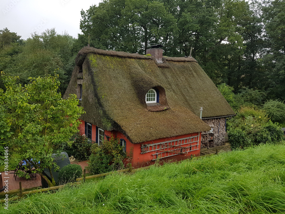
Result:
M60 169L64 166L70 164L68 154L66 152L60 153L59 157L56 157L56 154L52 154L52 158L54 158L53 162L55 162L56 165L58 165L60 167ZM54 181L56 183L58 183L58 172L59 172L59 170L54 171L54 167L52 167L52 175L53 175ZM46 177L48 177L48 179L50 179L50 181L51 181L50 172L47 168L44 169L44 175L46 175ZM42 178L42 188L48 188L48 183L43 178Z

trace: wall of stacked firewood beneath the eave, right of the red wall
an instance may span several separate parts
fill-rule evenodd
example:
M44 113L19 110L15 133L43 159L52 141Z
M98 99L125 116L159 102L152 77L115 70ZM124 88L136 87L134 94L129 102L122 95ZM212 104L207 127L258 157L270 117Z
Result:
M210 127L213 127L213 133L202 132L201 148L213 148L225 144L226 117L203 119Z

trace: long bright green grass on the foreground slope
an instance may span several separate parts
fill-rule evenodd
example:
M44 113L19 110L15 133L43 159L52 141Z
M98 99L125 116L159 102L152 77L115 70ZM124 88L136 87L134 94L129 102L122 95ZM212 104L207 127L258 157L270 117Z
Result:
M7 213L285 213L285 145L113 174L31 195Z

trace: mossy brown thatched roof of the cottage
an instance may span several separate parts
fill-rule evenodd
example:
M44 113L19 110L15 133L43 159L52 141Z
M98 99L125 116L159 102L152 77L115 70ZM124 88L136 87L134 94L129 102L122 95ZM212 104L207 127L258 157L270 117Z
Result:
M153 56L85 47L78 53L64 98L76 94L77 79L82 78L79 66L83 66L86 114L81 119L120 131L133 143L209 130L198 117L200 107L203 117L234 114L194 58L163 60L158 64ZM154 87L165 90L166 99L159 106L163 111L145 104L146 92Z

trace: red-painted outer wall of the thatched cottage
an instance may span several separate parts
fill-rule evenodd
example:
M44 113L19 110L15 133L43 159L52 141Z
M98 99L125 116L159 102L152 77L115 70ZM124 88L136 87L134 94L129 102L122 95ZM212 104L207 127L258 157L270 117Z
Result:
M85 134L85 122L83 120L80 120L82 124L79 126L79 132L80 134ZM105 130L105 139L106 136L110 136L113 134L114 137L117 137L119 139L124 139L126 141L126 152L127 154L132 153L132 166L134 168L140 168L148 165L154 164L155 161L153 161L153 152L148 152L141 154L141 143L140 144L133 144L131 143L126 136L124 136L121 132L117 131L107 131ZM199 145L198 145L198 150L194 151L189 151L188 154L177 154L174 156L166 157L166 158L161 158L163 161L180 161L184 160L187 158L190 158L190 156L199 156L200 155L200 148L201 148L201 132L200 133L192 133L192 134L185 134L185 135L180 135L180 136L175 136L175 137L169 137L169 138L160 138L152 141L147 141L143 142L143 144L155 144L155 143L160 143L160 142L165 142L165 141L170 141L170 140L177 140L181 138L189 138L191 136L199 136ZM92 124L92 140L96 141L96 126ZM186 146L190 146L190 144L185 144Z

